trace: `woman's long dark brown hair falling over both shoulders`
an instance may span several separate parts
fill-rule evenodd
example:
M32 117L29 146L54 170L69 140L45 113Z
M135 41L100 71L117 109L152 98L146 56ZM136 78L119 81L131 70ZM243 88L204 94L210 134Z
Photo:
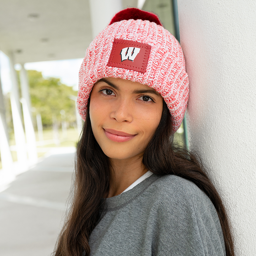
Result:
M218 213L226 255L234 256L233 239L220 196L201 161L186 149L173 145L171 116L165 103L160 124L144 152L142 163L155 174L173 174L191 180L205 192ZM73 202L53 255L78 256L84 251L85 255L90 254L89 236L100 217L100 199L108 194L108 189L108 157L93 136L87 108L86 121L77 145Z

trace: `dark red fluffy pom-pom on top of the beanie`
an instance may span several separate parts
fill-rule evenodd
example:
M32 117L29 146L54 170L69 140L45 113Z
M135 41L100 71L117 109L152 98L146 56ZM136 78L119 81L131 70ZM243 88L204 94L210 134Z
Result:
M127 8L120 12L117 12L108 25L111 25L121 20L131 20L131 19L132 20L148 20L150 22L155 22L157 25L163 26L158 16L155 13L142 11L138 8Z

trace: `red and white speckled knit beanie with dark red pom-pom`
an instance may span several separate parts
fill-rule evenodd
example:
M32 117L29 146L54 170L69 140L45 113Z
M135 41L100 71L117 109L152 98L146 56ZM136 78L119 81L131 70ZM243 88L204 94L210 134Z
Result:
M188 75L180 44L155 14L136 8L118 12L92 41L79 71L77 108L84 120L92 87L103 77L154 88L169 108L174 132L178 130L187 108Z

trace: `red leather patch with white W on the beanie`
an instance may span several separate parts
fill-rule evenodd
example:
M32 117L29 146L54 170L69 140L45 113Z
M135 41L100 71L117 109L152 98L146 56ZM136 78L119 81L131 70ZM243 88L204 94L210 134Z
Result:
M145 73L150 50L149 44L114 39L107 66Z

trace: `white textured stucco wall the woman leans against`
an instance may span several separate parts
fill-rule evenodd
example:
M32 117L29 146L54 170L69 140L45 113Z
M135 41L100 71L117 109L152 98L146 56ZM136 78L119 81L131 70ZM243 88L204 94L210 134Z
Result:
M236 255L256 255L256 1L178 0L178 11L190 149L228 209Z

